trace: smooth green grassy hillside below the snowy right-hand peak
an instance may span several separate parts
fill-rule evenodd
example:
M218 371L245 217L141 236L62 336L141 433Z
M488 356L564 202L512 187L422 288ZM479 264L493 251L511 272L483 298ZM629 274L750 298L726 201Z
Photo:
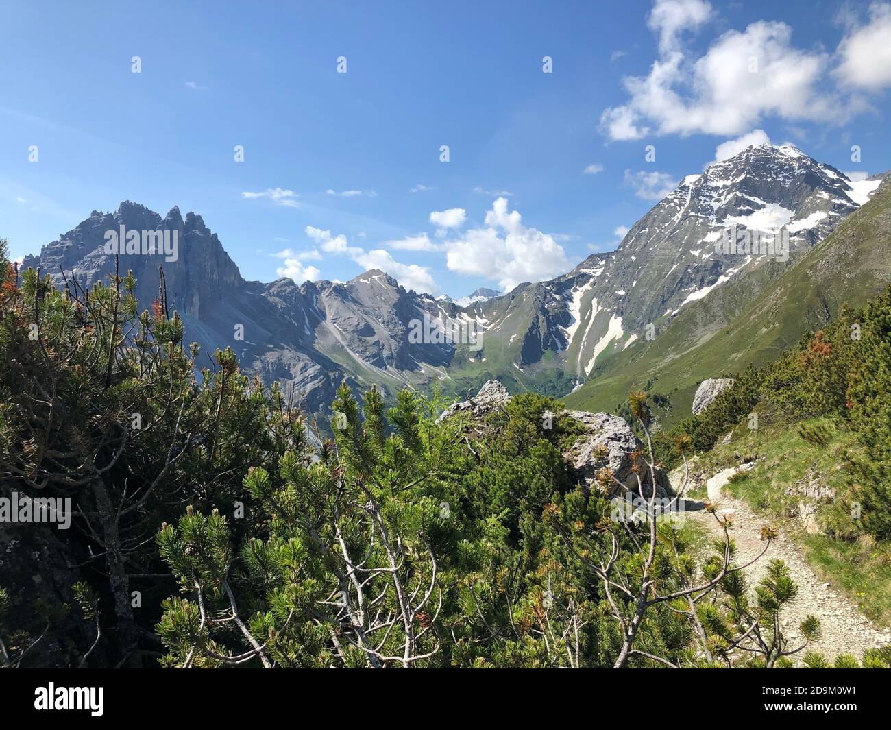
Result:
M769 262L657 323L655 340L610 358L564 400L585 410L614 410L628 390L652 381L652 391L671 399L666 422L679 421L690 414L699 382L771 362L842 304L859 307L889 282L891 185L883 185L794 265Z

